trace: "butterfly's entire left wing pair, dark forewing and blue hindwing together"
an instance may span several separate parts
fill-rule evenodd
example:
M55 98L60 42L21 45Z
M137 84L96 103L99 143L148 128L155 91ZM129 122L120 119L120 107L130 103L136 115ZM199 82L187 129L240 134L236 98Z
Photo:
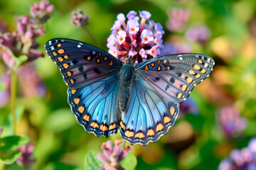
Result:
M109 137L117 132L114 112L122 63L108 52L85 42L56 38L46 52L68 85L68 103L87 132Z

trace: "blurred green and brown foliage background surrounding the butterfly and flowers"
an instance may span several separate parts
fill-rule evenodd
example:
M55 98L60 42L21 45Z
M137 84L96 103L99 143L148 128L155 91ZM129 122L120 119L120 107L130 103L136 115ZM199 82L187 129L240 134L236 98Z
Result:
M14 18L29 14L34 2L0 1L0 16L8 31L16 29ZM43 45L50 38L71 38L95 45L85 30L70 23L70 13L78 8L89 16L87 29L104 50L108 50L107 38L118 13L146 10L151 13L151 20L164 27L164 42L181 42L189 45L191 52L215 60L213 73L191 93L198 113L180 116L174 128L156 143L131 146L138 161L136 169L218 169L232 149L246 147L256 136L256 1L53 0L50 4L55 9L44 26L46 34L37 39L40 50L44 51ZM174 8L187 8L190 12L181 30L166 28L169 11ZM186 30L198 23L210 29L206 42L186 38ZM87 152L100 152L102 142L120 139L119 133L107 139L85 132L70 111L67 86L55 64L45 56L28 65L34 65L36 78L26 81L38 79L46 89L42 96L29 95L26 86L21 85L25 78L18 81L17 133L27 135L35 145L36 162L28 169L84 169ZM6 67L1 62L0 74L4 72ZM231 135L225 133L220 120L225 107L238 111L238 119L246 119L245 128ZM1 137L12 135L9 103L0 108L0 126L4 128Z

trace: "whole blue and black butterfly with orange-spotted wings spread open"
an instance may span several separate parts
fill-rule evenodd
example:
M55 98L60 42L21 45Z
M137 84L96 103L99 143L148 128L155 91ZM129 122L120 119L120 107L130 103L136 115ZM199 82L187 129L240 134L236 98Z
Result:
M98 47L55 38L45 45L68 86L68 103L87 132L117 133L130 144L147 145L174 126L179 103L213 70L211 57L183 53L134 66Z

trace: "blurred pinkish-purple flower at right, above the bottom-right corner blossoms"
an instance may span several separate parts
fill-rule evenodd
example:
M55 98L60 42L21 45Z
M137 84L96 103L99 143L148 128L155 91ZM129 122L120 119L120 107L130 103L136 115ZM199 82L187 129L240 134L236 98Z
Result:
M240 132L246 127L246 119L242 117L239 111L233 106L220 108L216 114L223 132L227 137L240 135Z

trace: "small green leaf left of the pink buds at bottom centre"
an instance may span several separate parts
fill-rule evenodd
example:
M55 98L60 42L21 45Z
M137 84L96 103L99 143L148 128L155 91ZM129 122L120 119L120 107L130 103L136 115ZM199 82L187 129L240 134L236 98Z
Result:
M97 158L95 152L89 152L85 157L85 170L98 170L102 166L102 162Z

